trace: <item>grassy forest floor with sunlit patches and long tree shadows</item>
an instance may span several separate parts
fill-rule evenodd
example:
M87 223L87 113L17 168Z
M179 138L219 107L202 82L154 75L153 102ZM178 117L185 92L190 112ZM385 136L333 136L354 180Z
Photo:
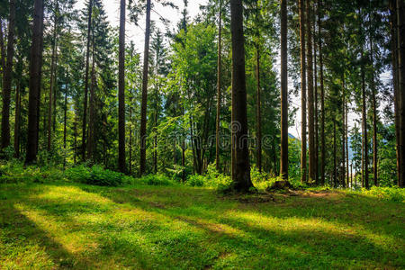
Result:
M0 184L2 269L405 268L405 207L329 190Z

